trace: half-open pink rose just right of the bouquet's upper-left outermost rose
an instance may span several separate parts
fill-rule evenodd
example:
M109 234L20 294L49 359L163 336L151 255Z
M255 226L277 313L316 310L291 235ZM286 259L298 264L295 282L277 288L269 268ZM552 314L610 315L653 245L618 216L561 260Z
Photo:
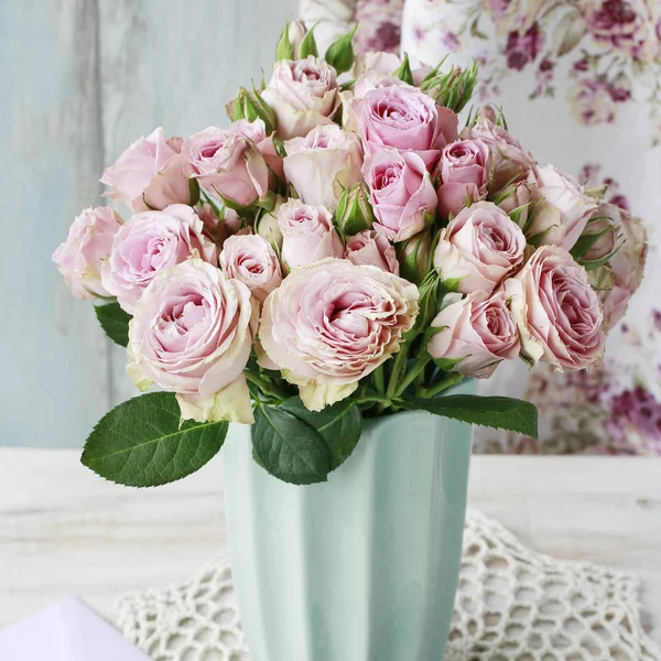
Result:
M208 127L184 141L182 156L203 188L230 204L247 207L269 193L267 162L241 131Z

